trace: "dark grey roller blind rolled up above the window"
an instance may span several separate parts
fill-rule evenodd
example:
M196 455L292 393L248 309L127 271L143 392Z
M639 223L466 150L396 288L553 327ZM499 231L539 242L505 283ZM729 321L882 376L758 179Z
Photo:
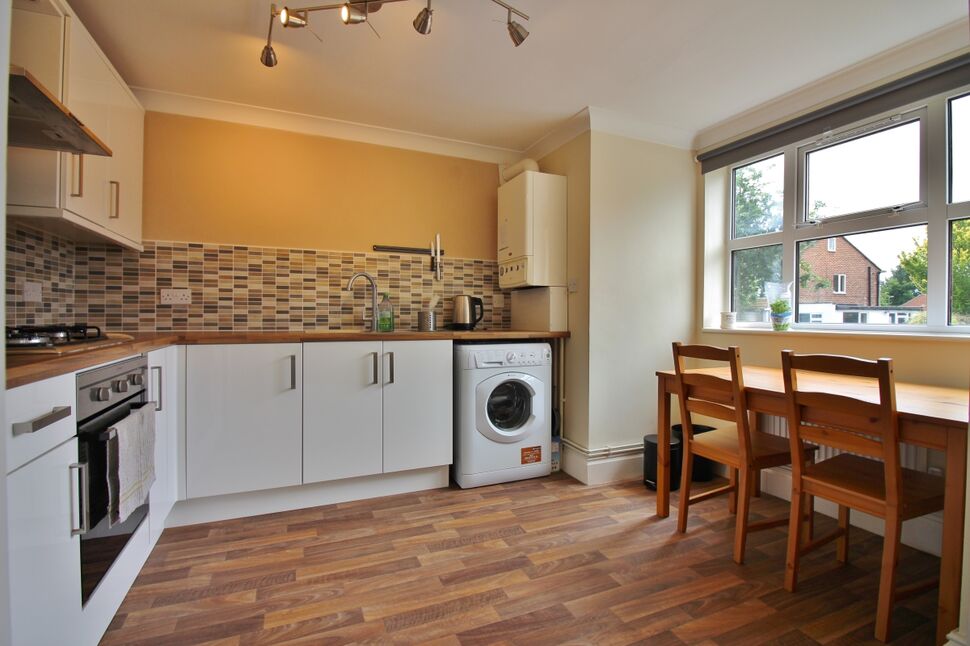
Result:
M750 159L829 130L918 102L970 83L970 54L939 63L892 83L732 141L697 156L704 173Z

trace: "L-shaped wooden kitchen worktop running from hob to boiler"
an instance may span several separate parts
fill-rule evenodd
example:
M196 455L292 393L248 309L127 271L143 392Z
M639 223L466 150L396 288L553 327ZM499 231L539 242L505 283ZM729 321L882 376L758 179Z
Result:
M7 354L7 388L85 370L170 345L219 343L314 343L327 341L524 341L567 338L569 332L483 330L479 332L158 332L132 334L133 340L108 348L64 356Z

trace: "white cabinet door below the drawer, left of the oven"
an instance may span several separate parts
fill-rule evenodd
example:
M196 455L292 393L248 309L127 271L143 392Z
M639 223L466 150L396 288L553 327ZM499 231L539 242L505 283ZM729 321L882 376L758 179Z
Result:
M74 438L7 476L14 644L78 643L81 547L71 535L80 527L77 457Z

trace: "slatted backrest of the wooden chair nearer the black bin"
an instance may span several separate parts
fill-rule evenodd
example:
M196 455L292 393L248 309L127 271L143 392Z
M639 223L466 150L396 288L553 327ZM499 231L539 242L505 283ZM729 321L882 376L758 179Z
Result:
M685 441L694 436L692 413L733 422L738 429L738 448L741 460L751 463L751 437L748 427L748 406L744 393L744 377L741 374L741 352L737 347L717 348L708 345L673 344L674 371L677 379L680 417ZM731 379L715 377L702 372L687 372L684 359L700 359L727 363Z

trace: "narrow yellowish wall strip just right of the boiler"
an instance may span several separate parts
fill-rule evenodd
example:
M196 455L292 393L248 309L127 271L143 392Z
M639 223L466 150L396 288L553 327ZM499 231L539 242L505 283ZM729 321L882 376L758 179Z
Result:
M563 437L584 447L589 446L589 145L586 131L539 160L543 172L566 176L566 273L576 291L568 296Z

